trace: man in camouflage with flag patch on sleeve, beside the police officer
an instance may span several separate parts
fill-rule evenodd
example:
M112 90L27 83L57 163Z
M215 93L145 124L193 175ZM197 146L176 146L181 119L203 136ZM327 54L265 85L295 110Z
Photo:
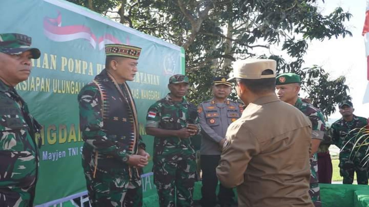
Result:
M188 87L186 76L170 77L170 93L151 105L146 117L146 133L155 136L153 172L161 207L193 203L196 160L189 137L200 128L196 107L184 98Z

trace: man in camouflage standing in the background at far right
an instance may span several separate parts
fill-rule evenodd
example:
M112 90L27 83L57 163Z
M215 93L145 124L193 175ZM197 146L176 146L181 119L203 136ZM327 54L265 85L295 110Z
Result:
M356 145L364 144L358 138L362 135L360 129L368 127L368 121L364 117L355 116L352 107L350 101L339 103L338 108L342 118L331 126L332 142L341 149L339 152L339 173L344 177L343 183L352 184L356 171L358 184L368 185L368 164L363 162L365 155L368 154L368 145L354 148L357 141Z

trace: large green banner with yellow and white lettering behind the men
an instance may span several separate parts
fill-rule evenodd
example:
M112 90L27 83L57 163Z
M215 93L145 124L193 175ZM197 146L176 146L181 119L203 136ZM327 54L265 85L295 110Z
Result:
M32 46L42 53L32 61L28 80L16 86L44 127L35 204L48 206L86 191L77 94L104 69L104 44L142 48L139 72L129 85L140 134L152 154L153 138L145 133L146 111L168 93L168 78L183 73L180 47L62 0L1 0L0 18L0 33L31 36ZM150 160L142 178L144 196L155 193L151 169Z

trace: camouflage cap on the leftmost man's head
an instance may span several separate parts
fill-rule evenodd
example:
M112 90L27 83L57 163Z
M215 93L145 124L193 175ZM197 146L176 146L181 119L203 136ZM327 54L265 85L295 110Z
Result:
M18 33L0 34L0 52L8 55L19 55L30 50L32 59L38 59L41 52L37 48L31 48L32 38Z

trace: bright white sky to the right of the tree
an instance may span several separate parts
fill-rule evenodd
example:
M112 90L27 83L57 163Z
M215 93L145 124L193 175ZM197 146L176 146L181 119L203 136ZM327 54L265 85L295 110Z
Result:
M312 41L309 43L307 54L304 57L305 66L316 64L322 66L332 77L345 76L349 86L349 95L352 97L354 114L356 116L369 117L369 103L363 104L363 97L368 84L366 79L366 55L365 42L362 36L365 21L365 0L325 0L318 6L323 14L328 14L336 7L342 7L344 11L352 14L350 21L346 22L352 37L325 39L323 42ZM303 66L304 67L304 66ZM337 106L336 106L337 107ZM341 117L336 112L330 119L337 120Z

